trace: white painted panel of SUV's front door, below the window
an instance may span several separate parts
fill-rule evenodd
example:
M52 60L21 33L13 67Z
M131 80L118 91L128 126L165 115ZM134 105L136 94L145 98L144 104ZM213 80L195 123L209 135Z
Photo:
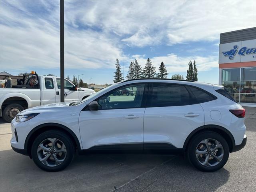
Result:
M106 144L143 143L144 111L145 108L81 111L79 127L83 149ZM125 118L129 115L138 118Z

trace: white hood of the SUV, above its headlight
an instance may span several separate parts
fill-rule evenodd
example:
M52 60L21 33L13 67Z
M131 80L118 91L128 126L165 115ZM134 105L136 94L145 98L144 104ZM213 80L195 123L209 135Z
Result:
M28 113L41 113L41 112L50 112L52 110L60 109L63 110L62 107L70 107L69 104L72 102L62 102L62 103L52 103L47 105L40 105L32 108L28 108L23 110L19 114L28 114ZM19 115L18 114L18 115Z

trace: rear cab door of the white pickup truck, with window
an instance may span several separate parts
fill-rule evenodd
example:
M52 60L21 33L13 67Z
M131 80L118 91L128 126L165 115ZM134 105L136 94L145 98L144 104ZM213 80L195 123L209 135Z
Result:
M43 104L51 104L56 102L56 86L54 86L54 78L45 77L43 78Z

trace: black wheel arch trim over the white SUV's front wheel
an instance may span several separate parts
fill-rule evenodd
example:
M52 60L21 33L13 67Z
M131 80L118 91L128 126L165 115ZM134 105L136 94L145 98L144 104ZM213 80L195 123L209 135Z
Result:
M75 147L80 150L81 146L80 146L80 142L76 136L76 134L74 134L74 132L72 130L70 130L70 128L62 125L62 124L58 124L58 123L45 123L45 124L41 124L39 126L36 126L33 130L30 131L30 133L28 134L25 143L24 143L24 149L28 151L28 154L31 158L31 148L32 148L32 143L34 141L34 139L41 133L48 131L48 130L60 130L60 131L64 131L68 136L70 136L72 142L74 143Z

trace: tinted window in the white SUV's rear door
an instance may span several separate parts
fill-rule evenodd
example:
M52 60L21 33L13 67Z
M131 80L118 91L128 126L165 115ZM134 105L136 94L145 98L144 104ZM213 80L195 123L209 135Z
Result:
M183 85L152 84L152 94L149 106L165 107L190 104L190 94Z

